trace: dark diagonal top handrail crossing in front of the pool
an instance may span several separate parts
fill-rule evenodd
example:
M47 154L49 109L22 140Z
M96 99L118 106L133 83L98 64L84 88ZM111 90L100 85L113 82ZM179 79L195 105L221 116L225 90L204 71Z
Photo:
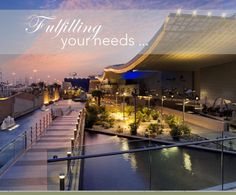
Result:
M60 162L60 161L67 161L67 160L79 160L79 159L96 158L96 157L102 157L102 156L113 156L113 155L120 155L120 154L130 154L130 153L136 153L136 152L144 152L144 151L151 151L151 150L161 150L161 149L165 149L165 148L183 147L183 146L197 145L197 144L203 144L203 143L211 143L211 142L219 142L219 141L229 141L229 140L233 140L233 139L236 139L236 137L218 138L218 139L212 139L212 140L185 142L185 143L177 143L177 144L164 145L164 146L145 147L145 148L138 148L138 149L132 149L132 150L100 153L100 154L89 154L89 155L81 155L81 156L72 156L72 157L48 159L47 162L48 163L53 163L53 162Z

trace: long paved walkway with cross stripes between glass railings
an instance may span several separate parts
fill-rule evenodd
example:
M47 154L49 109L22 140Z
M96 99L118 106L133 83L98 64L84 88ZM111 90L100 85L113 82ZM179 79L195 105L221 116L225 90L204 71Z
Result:
M59 190L59 174L65 172L66 162L48 164L53 155L66 156L70 150L78 112L58 117L46 134L0 177L0 190L45 191Z

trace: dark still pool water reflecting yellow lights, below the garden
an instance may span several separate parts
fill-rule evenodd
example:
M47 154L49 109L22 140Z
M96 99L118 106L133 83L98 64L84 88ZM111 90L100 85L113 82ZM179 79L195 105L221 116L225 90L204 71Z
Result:
M148 143L86 133L85 154L128 150ZM221 184L219 153L170 148L84 160L83 190L200 190ZM236 181L236 156L225 155L224 182Z

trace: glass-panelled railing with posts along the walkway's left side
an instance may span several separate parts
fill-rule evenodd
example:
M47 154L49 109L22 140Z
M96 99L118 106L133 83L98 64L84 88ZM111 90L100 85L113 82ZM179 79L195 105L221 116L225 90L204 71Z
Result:
M0 149L0 175L46 133L52 122L51 112Z

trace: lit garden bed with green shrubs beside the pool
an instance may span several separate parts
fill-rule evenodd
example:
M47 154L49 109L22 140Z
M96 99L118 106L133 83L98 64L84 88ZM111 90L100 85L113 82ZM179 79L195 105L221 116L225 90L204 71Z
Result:
M87 128L174 141L200 139L175 115L162 115L158 108L137 106L135 122L134 106L101 104L101 94L93 94L93 101L90 100L86 106Z

